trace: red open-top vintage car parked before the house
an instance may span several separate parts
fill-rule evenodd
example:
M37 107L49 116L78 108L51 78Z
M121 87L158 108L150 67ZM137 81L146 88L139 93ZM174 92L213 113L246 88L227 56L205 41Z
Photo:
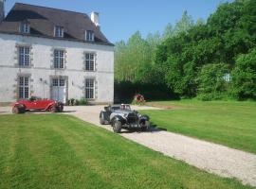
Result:
M64 104L55 100L33 96L28 100L19 100L12 106L12 113L25 113L27 111L63 112Z

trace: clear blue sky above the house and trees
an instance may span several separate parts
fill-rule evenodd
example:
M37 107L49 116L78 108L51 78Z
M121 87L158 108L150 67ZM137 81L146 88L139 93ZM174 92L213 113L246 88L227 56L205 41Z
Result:
M101 13L101 30L112 42L127 40L139 30L143 37L149 32L162 31L180 19L188 10L194 20L207 19L221 2L232 0L19 0L20 3L68 9L89 14ZM7 0L6 10L15 0Z

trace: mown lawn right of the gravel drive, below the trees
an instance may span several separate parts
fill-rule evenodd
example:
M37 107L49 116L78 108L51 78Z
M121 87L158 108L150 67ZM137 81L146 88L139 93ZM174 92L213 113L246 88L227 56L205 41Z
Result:
M256 102L150 102L175 109L144 111L159 128L256 153Z

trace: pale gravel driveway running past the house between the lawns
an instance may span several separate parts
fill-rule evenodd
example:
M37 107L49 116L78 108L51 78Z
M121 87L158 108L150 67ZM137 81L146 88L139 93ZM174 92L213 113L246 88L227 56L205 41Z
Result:
M132 108L137 111L157 110L153 107ZM99 113L102 109L103 106L65 107L64 113L112 131L110 126L101 126L99 123ZM9 110L9 107L0 107L0 114L9 113ZM236 178L245 184L256 186L256 155L254 154L157 129L148 132L124 131L120 135L210 173Z

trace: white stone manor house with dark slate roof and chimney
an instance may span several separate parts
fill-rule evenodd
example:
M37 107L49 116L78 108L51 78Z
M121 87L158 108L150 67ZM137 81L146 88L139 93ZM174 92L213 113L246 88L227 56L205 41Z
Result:
M99 13L16 3L5 17L0 0L0 102L39 96L64 103L85 97L113 103L114 45Z

